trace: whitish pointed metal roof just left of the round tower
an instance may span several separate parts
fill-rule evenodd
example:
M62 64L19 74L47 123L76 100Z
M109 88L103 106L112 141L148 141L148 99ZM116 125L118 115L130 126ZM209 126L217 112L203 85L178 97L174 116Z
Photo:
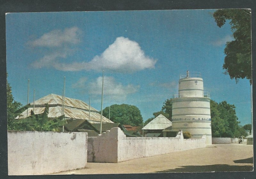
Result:
M172 122L165 118L162 114L154 118L147 125L145 125L142 129L144 130L163 130L167 127L172 126Z

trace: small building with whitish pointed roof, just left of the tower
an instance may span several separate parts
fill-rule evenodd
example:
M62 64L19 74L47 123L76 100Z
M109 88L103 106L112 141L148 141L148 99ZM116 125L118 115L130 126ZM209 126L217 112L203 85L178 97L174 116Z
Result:
M146 133L145 137L160 137L162 131L171 126L172 122L160 114L147 125L145 125L142 129Z

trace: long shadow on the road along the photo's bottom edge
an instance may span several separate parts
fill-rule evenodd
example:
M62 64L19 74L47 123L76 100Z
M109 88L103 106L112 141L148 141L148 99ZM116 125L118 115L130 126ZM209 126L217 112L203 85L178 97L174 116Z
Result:
M215 165L188 165L180 166L180 168L168 169L156 171L154 173L182 173L182 172L242 172L252 171L253 167L250 165L237 166L227 164L215 164Z

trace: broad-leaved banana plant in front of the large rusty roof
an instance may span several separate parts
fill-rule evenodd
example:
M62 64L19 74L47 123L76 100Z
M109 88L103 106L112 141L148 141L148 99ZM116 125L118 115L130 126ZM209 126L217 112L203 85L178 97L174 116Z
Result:
M67 124L66 120L63 120L64 115L55 118L48 118L49 105L46 104L44 112L41 114L35 114L31 111L31 115L24 119L16 120L16 124L22 124L26 127L23 130L26 131L54 131L60 132L59 127Z

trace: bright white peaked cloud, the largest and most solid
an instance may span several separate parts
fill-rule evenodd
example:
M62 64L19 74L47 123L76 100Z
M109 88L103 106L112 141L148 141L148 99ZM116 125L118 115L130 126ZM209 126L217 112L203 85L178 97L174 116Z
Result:
M109 69L116 72L133 72L154 68L156 60L145 55L140 45L128 38L118 37L100 56L88 62L85 69Z

